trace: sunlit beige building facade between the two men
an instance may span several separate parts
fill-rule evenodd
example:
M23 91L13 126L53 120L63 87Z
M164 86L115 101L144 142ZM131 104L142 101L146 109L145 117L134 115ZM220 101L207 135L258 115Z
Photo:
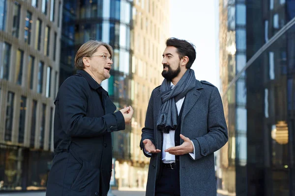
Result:
M135 112L130 135L131 163L125 162L115 169L116 178L126 179L125 184L119 183L119 190L146 189L149 158L139 144L150 94L163 81L161 62L169 38L169 4L169 0L134 0L131 100Z

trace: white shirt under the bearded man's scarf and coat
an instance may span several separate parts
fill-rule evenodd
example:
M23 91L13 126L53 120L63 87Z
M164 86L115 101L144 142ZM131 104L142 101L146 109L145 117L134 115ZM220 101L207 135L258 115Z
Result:
M175 85L171 82L171 89L173 89L175 87ZM184 97L185 98L185 97ZM179 115L180 113L180 109L181 106L183 104L184 98L179 99L175 104L177 107L177 113ZM162 146L162 162L163 163L174 163L175 162L175 155L174 154L170 154L169 152L165 152L165 149L168 149L169 147L175 147L175 130L169 130L169 133L163 133L163 146ZM191 141L192 142L192 141ZM194 143L192 142L193 147L194 147L194 152L193 153L189 153L189 155L195 159L195 146ZM145 149L145 152L149 155L151 155L151 153L147 152Z

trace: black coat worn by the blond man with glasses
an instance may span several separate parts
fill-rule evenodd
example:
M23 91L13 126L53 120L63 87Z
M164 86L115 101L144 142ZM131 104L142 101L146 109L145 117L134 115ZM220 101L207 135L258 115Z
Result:
M46 196L106 196L111 132L125 129L122 113L115 112L108 93L83 70L63 82L55 105L55 157Z

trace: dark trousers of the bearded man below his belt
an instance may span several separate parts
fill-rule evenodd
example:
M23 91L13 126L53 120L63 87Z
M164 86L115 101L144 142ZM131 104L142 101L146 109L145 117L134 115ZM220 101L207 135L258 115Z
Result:
M180 196L179 167L161 169L156 181L155 196Z

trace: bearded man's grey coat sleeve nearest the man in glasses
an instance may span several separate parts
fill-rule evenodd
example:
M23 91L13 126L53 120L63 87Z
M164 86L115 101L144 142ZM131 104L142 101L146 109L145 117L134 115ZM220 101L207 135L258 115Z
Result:
M140 148L143 150L145 156L151 157L151 155L147 154L144 150L145 139L149 139L154 144L154 124L153 124L153 92L151 93L150 99L148 101L148 109L146 115L145 127L142 129L142 139L140 141Z

